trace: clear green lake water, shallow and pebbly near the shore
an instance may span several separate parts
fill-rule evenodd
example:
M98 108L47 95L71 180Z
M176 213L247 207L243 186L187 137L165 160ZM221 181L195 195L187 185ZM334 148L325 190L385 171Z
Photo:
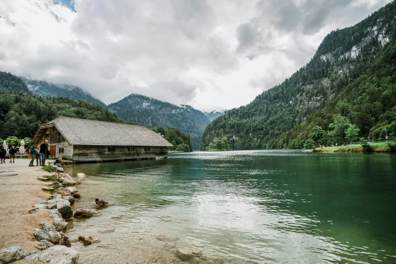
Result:
M175 261L161 234L213 262L396 263L396 155L194 152L70 170L87 174L76 208L111 204L69 232L101 239L83 263Z

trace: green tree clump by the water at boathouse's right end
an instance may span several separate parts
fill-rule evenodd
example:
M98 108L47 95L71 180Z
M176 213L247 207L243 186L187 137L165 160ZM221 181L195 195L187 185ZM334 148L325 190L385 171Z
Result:
M182 133L178 128L174 127L162 127L158 126L151 128L151 130L160 133L164 138L173 145L173 147L168 148L169 150L191 152L193 151L193 146L191 145L190 135Z

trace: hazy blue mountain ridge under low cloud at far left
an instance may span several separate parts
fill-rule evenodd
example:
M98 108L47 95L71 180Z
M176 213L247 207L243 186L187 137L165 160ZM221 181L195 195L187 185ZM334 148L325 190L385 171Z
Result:
M106 107L105 103L84 92L80 87L73 85L59 85L46 81L31 80L21 77L28 89L36 96L42 97L67 97L78 101L94 103Z

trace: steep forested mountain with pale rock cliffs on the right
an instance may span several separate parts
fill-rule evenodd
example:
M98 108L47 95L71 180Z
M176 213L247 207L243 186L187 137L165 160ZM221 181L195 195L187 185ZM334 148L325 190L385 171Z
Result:
M223 137L231 149L302 148L314 126L328 130L340 115L360 128L360 137L396 136L395 21L393 1L353 27L332 31L290 78L213 120L200 148Z

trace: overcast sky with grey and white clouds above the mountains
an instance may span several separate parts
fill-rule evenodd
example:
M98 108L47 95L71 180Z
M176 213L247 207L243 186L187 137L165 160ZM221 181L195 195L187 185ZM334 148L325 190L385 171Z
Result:
M0 70L202 111L252 101L389 0L2 0Z

